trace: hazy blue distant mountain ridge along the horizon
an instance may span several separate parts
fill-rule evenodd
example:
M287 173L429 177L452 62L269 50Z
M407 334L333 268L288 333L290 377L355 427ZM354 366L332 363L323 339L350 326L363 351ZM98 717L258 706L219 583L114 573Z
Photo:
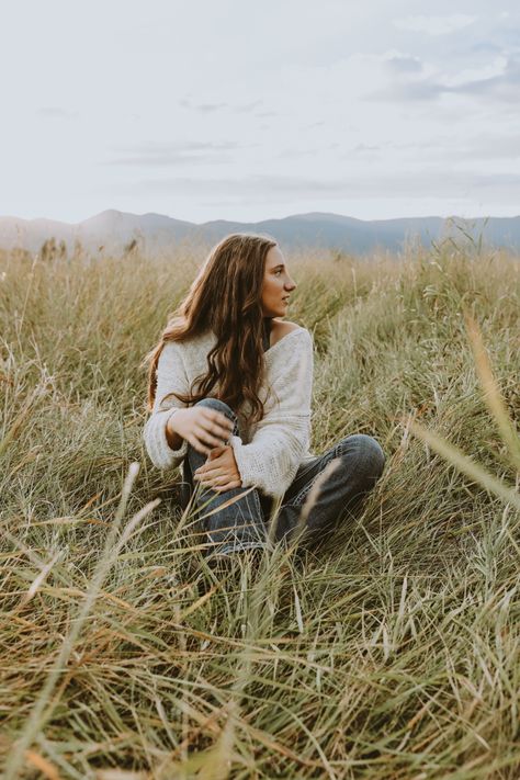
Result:
M455 225L459 226L455 227ZM520 216L516 217L408 217L363 221L341 214L310 212L280 219L256 223L217 219L202 224L174 219L162 214L128 214L108 210L83 222L68 224L50 219L0 217L0 248L15 247L38 251L55 238L65 241L72 251L79 241L90 253L122 253L137 246L145 255L156 255L181 241L197 240L214 244L229 233L267 233L283 247L319 247L351 253L366 253L376 248L399 252L407 240L418 239L429 247L431 240L449 235L463 239L465 230L475 240L483 240L513 252L520 251Z

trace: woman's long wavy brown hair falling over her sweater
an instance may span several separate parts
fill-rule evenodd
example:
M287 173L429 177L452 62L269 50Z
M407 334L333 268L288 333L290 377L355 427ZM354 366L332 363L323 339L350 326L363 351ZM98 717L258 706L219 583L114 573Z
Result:
M159 343L145 357L148 364L148 409L157 389L157 363L168 341L184 341L211 328L216 336L207 353L207 373L195 377L188 394L171 393L191 406L218 384L217 395L236 414L250 403L249 419L263 417L258 391L264 377L261 305L265 258L274 239L230 234L210 251L190 291L170 315Z

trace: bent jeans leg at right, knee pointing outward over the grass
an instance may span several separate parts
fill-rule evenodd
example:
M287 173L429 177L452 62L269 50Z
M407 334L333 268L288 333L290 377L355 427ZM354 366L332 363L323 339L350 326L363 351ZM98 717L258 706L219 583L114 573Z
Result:
M317 547L343 517L358 510L383 473L385 455L378 442L364 433L341 439L323 455L299 466L287 488L278 517L275 539L291 540L299 532L302 508L328 464L332 471L317 488L303 523L302 541ZM304 510L305 513L305 510Z

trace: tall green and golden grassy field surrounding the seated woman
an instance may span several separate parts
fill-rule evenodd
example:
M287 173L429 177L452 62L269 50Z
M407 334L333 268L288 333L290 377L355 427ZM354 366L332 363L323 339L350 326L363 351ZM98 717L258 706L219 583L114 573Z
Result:
M8 780L520 777L520 260L286 257L312 449L369 433L386 468L319 556L218 579L142 441L203 255L0 256Z

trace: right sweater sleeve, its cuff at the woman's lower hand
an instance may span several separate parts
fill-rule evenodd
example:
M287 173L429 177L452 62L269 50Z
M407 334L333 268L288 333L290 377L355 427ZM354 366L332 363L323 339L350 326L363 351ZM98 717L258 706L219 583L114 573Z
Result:
M313 339L302 328L298 338L290 342L276 354L271 381L275 399L252 440L248 444L237 436L229 440L242 487L255 485L270 496L283 496L291 485L310 436Z

